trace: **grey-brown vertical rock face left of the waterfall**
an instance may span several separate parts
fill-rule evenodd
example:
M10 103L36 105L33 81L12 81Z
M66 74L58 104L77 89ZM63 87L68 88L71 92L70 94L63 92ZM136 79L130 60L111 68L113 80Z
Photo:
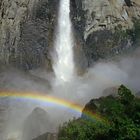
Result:
M50 68L58 0L0 1L0 61L23 69Z

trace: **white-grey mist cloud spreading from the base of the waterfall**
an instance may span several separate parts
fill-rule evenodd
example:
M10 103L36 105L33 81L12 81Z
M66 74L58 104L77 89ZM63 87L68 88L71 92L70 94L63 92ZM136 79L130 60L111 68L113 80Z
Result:
M36 91L43 94L63 98L84 106L92 98L105 96L104 91L121 84L128 86L134 93L140 91L140 50L131 55L116 58L111 61L100 61L89 68L80 76L75 76L72 81L60 83L55 80L54 74L38 69L30 72L21 72L15 69L5 69L0 73L0 88L3 90ZM54 122L54 128L74 116L69 109L57 106L48 107L29 101L12 101L9 99L9 120L7 133L14 134L34 108L40 106L48 112ZM14 125L16 123L16 125ZM13 127L14 126L14 127ZM15 129L14 129L15 128ZM13 131L14 130L14 131ZM46 130L47 131L47 130ZM16 135L16 134L15 134Z

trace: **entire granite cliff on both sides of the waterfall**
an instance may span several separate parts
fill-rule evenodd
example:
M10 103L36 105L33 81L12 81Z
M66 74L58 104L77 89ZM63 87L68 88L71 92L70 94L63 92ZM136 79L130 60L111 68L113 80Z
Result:
M59 0L1 0L1 62L51 70L58 7ZM78 67L139 46L139 0L71 0L71 19Z

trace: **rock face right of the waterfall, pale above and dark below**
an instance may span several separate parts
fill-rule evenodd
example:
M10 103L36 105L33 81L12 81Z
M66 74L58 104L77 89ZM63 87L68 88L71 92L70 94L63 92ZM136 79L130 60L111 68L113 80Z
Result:
M133 48L134 20L140 19L139 0L71 0L76 37L90 66L93 61Z

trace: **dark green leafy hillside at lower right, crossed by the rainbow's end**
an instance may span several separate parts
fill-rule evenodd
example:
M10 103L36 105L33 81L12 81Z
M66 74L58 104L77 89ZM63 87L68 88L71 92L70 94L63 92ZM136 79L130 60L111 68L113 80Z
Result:
M140 99L125 86L119 87L117 97L93 99L86 105L84 111L86 109L92 109L94 113L102 115L109 124L84 117L74 119L60 127L59 140L140 139Z

